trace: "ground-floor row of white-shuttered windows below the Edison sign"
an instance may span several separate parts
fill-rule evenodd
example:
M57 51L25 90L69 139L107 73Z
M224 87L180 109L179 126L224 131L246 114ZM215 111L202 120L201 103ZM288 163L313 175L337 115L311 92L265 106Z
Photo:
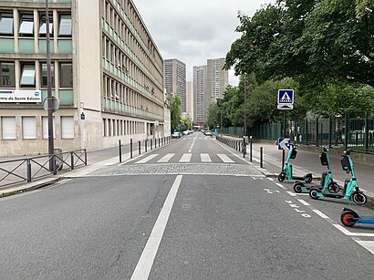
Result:
M37 126L36 117L21 117L22 118L22 139L36 140ZM61 130L58 133L61 139L74 139L74 117L60 117ZM39 120L40 121L40 120ZM42 117L41 120L41 137L48 139L48 118ZM53 126L55 127L55 117L53 119ZM1 132L3 140L16 140L16 117L1 117ZM54 129L54 138L56 138L56 130Z

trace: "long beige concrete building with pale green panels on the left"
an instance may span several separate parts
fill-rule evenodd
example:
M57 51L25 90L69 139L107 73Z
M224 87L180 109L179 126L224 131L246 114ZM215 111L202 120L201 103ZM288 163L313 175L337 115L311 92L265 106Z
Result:
M0 2L0 156L48 150L45 2ZM48 3L55 147L166 136L163 58L134 2Z

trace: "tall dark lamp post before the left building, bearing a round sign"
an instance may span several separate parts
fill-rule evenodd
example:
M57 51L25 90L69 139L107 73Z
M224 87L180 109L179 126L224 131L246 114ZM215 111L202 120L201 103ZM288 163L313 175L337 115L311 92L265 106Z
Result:
M52 110L52 85L51 85L51 54L49 37L49 9L48 0L46 0L46 44L47 44L47 113L48 113L48 155L49 170L55 172L55 161L52 155L55 153L53 142L53 110Z

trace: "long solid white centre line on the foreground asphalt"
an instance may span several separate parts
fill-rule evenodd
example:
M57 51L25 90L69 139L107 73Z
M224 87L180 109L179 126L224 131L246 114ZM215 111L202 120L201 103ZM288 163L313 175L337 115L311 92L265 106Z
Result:
M156 223L153 226L150 238L144 247L143 252L140 255L138 264L132 273L131 280L148 279L151 273L154 258L159 250L162 235L165 231L166 223L168 223L169 216L171 213L172 204L175 201L178 189L181 185L182 175L178 175L175 178L174 183L171 186L171 190L166 198L161 213L157 218Z

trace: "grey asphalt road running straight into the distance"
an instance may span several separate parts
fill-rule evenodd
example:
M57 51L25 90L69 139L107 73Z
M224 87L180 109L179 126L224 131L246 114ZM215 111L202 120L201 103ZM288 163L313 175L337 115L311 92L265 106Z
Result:
M0 200L0 278L369 279L374 226L289 190L194 133Z

